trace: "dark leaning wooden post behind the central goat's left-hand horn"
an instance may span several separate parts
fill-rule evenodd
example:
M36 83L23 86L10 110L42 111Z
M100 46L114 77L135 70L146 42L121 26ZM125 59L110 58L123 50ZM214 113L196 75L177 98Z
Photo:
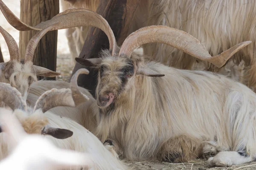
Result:
M127 35L130 24L133 20L135 10L139 5L139 0L101 0L96 13L102 15L115 34L118 45L121 45L125 40L122 35ZM121 34L122 33L122 34ZM109 49L108 37L99 28L91 28L84 46L79 55L79 58L95 58L101 49ZM76 63L73 74L79 68L83 67ZM81 75L78 78L78 85L86 88L90 93L95 96L96 79L98 71L87 68L90 71L88 75Z

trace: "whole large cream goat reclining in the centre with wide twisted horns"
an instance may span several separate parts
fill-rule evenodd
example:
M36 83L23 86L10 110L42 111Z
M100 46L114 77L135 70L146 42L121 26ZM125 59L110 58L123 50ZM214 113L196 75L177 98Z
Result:
M8 10L8 8L6 10ZM53 23L60 21L57 19L58 17L65 18L67 23L69 23L71 26L73 21L72 19L74 19L74 16L80 18L81 11L89 12L89 10L84 10L84 9L67 10L61 14L56 15L51 20L48 20L32 28L22 23L17 18L15 18L15 16L10 12L9 13L7 12L8 15L5 14L5 16L12 18L12 19L10 18L8 19L9 23L12 24L12 22L14 21L19 23L18 26L14 25L17 29L24 30L24 29L41 28L42 26L43 28L45 28L47 24L49 26L49 25L52 25ZM74 15L72 14L72 12L74 12ZM90 14L95 14L95 13L90 11ZM73 15L73 18L68 17L67 15L70 15L70 16ZM211 75L211 73L199 72L199 74L196 74L197 72L182 71L182 70L180 71L174 68L169 68L167 66L161 65L159 63L148 62L146 60L144 61L138 55L133 55L131 59L130 59L130 56L133 50L139 47L140 45L143 45L143 43L162 42L168 45L172 45L173 47L178 48L193 57L211 62L217 67L221 67L227 62L228 59L230 59L230 57L233 54L235 54L244 46L250 44L251 41L241 42L233 46L232 48L228 49L227 51L224 51L221 54L212 57L208 53L206 48L203 45L201 45L197 39L187 34L186 32L177 30L175 28L169 28L164 26L150 26L147 28L142 28L141 30L138 30L133 34L131 34L126 39L126 42L124 42L124 44L122 45L119 51L119 48L116 45L116 40L114 38L113 31L109 27L108 23L103 19L102 20L99 20L99 18L96 18L96 19L99 21L99 24L102 25L103 28L101 29L103 31L105 30L105 33L107 34L108 39L110 40L110 49L109 51L102 52L102 55L104 56L103 62L101 61L101 59L87 59L87 60L76 59L76 61L86 66L88 65L90 66L92 64L96 66L99 65L99 67L101 65L103 66L100 68L100 71L99 71L100 73L98 78L99 83L97 86L97 89L98 89L97 104L101 108L100 114L99 114L99 126L97 129L97 132L98 132L97 135L101 138L102 141L104 141L108 137L116 141L117 145L121 146L124 156L127 159L131 159L131 160L154 159L154 158L157 158L160 160L163 157L166 161L168 161L170 159L169 157L166 158L166 156L170 156L172 153L175 153L175 152L177 153L177 151L175 150L178 149L177 147L172 147L172 144L175 143L178 146L179 144L182 145L181 143L184 141L184 139L187 139L186 142L191 143L193 152L189 152L191 148L183 148L182 154L184 154L184 156L182 156L181 159L187 160L187 159L191 159L193 155L199 156L201 154L201 150L205 150L205 148L209 146L209 143L207 143L206 146L204 145L202 146L202 143L205 141L211 142L215 139L213 136L215 134L214 133L215 131L213 132L213 130L216 130L216 128L220 127L217 124L218 120L215 119L216 125L213 123L208 123L206 121L207 124L205 125L209 125L209 127L204 127L203 125L201 127L198 127L195 124L193 124L195 122L190 122L190 124L188 123L187 125L190 125L188 127L180 127L179 123L175 124L175 121L172 122L172 119L171 119L172 116L174 118L177 118L177 116L174 113L174 109L175 111L177 111L177 113L180 113L180 115L178 116L181 116L181 119L175 119L176 121L178 120L182 121L184 118L186 118L186 116L188 116L186 113L189 114L190 112L187 111L186 108L189 108L189 107L192 108L191 109L192 111L195 111L195 108L196 108L198 110L198 113L195 113L195 116L197 116L196 118L198 118L198 120L202 120L200 116L206 116L206 118L209 118L210 116L214 116L215 114L212 113L214 111L214 108L220 108L219 105L221 104L223 105L224 102L219 103L219 102L215 102L215 100L212 99L213 100L212 102L215 102L215 103L213 103L210 106L208 106L209 104L202 106L202 105L197 105L199 104L200 99L196 98L196 99L188 100L190 103L188 103L188 105L183 106L182 105L184 104L183 100L180 99L177 96L177 94L175 95L175 93L178 93L180 94L179 96L181 96L183 94L182 93L183 91L180 91L181 89L192 88L192 89L189 89L190 91L186 91L186 93L189 94L187 96L188 98L189 96L195 97L195 95L197 95L197 97L203 97L207 93L211 94L210 93L211 91L209 91L209 89L208 90L204 89L204 91L202 90L203 85L207 87L212 87L213 85L212 84L209 85L209 83L215 80L218 86L222 87L221 89L217 89L218 91L216 92L216 94L218 94L218 96L221 97L222 99L225 97L223 96L225 95L225 93L222 93L222 92L225 92L223 87L226 88L227 84L228 85L234 84L233 85L234 87L237 87L237 86L240 87L241 85L231 81L230 79L226 79L224 77L225 81L227 82L227 84L225 84L224 82L218 81L218 76ZM76 23L76 26L81 26L81 24ZM141 33L141 31L143 32L143 34L140 34L140 36L138 36L138 33ZM149 32L151 32L151 34L149 34ZM136 41L136 43L134 41ZM125 44L127 42L133 42L133 43ZM117 57L116 53L118 51L119 51L119 56L121 57ZM126 57L124 57L123 55ZM134 72L136 73L136 77L134 75ZM157 79L152 78L152 77L163 76L163 74L159 74L159 72L168 74L168 76L166 76L168 79L166 77L158 78L161 81L159 86L162 87L162 89L158 89L158 87L154 85L155 83L157 83ZM176 77L173 76L173 74L176 74L176 73L178 74L178 76ZM104 74L105 74L105 77L102 78ZM202 76L201 74L203 75L206 74L208 77L206 78L206 76ZM194 77L190 78L189 76L191 75L193 75ZM182 76L184 77L184 79L186 79L186 81L182 79ZM210 78L212 78L213 80L211 80L209 76L212 76ZM195 77L196 79L194 79ZM197 80L198 78L201 81ZM106 83L107 85L104 85L104 83ZM139 83L141 83L143 89L138 88ZM149 85L150 87L147 87L147 85ZM175 88L168 88L169 85L173 85ZM186 87L186 85L189 87ZM108 86L111 86L113 89L108 89ZM177 87L180 90L176 89ZM241 86L241 87L244 87L244 86ZM108 89L108 90L104 90L104 89ZM237 89L241 90L241 88L238 88L238 87ZM245 91L249 91L248 95L253 95L250 89L247 89L247 88L245 89L246 89ZM193 94L194 92L198 92L198 94ZM174 94L173 96L171 95L172 93ZM135 95L136 95L136 98L135 98ZM157 97L157 99L156 100L152 99L148 101L148 99L150 99L150 97L152 96ZM176 97L175 101L172 101L174 96ZM145 97L147 97L146 98L147 100L145 100ZM230 98L232 98L232 96L227 97L227 99L230 99ZM137 99L137 100L134 101L133 99L134 100ZM137 104L141 102L145 103L143 104L143 107L141 107L141 105L138 106ZM120 103L122 104L125 103L125 106L122 106L122 104ZM137 105L135 105L135 103ZM212 113L212 115L209 115L209 113L207 114L204 113L204 115L201 114L204 110L209 111L209 113ZM221 111L222 110L220 109L220 111L217 114L223 113ZM158 115L160 113L162 113L162 115ZM133 115L134 117L131 117L131 115ZM230 115L230 114L225 114L225 115ZM146 119L147 117L148 119ZM210 117L210 118L214 118L214 117ZM227 120L225 121L227 122ZM230 125L230 124L227 124L226 122L225 122L225 125ZM136 126L134 126L134 123ZM195 128L193 129L193 127ZM201 136L195 133L195 132L198 132L198 130L200 129L201 130L204 129ZM223 130L224 128L220 128L220 129ZM187 136L187 133L189 133L188 130L192 131L191 137ZM216 136L218 140L223 142L223 138L226 136L221 136L221 134L217 133ZM180 137L178 135L180 135ZM175 137L177 137L176 142L172 141L173 139L175 139ZM131 139L134 139L134 140L131 142ZM250 139L249 141L251 140L252 139ZM130 143L128 143L128 141ZM180 142L177 143L177 141L180 141ZM226 145L228 147L231 147L232 150L238 150L239 152L243 151L240 147L237 147L237 145L232 146L231 144L232 142L229 142L229 143L227 142L226 144L223 144L224 142L223 143L221 142L218 142L215 148L218 149L219 147L224 147ZM239 144L241 143L238 142L238 145ZM175 148L175 150L171 150L173 148ZM202 148L202 149L199 149L199 148ZM252 148L252 146L248 144L247 148ZM161 149L163 151L160 151ZM223 149L220 151L223 151ZM203 155L206 156L207 153L209 153L209 150L204 152ZM217 156L220 154L222 154L222 152L218 153ZM253 155L251 155L249 159L252 160ZM246 160L248 161L249 159L246 159ZM246 160L242 159L242 161L246 161Z

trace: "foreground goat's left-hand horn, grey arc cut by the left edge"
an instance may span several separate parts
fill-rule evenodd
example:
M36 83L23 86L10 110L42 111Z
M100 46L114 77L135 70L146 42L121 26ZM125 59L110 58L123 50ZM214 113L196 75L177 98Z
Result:
M22 95L9 83L0 82L0 94L0 101L8 105L13 111L15 109L27 111L27 105Z

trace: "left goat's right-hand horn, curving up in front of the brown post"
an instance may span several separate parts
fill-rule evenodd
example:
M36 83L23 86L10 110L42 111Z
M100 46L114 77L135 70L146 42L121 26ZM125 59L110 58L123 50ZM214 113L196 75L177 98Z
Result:
M38 42L41 40L41 38L48 32L50 31L53 27L58 26L59 23L55 23L52 26L48 26L46 28L44 28L43 30L39 31L38 33L36 33L30 40L29 43L26 47L26 53L25 53L25 63L28 61L33 60L34 57L34 53L35 53L35 48L38 45Z

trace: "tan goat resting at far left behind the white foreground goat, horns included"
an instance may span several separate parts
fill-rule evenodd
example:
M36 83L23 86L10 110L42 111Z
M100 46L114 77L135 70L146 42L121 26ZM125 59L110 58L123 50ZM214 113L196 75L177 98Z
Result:
M44 34L46 34L46 32L50 28L51 28L51 26L43 29L42 31L39 31L34 37L32 37L32 39L29 41L29 44L27 46L27 49L28 49L27 52L32 51L32 53L30 55L26 55L27 58L29 56L32 57L34 55L34 51L35 51L35 47L36 47L37 43L39 42L41 37ZM9 41L6 41L6 42L9 46L10 53L13 55L15 55L15 54L19 55L19 52L16 51L16 50L18 50L18 48L16 48L16 50L14 48L11 48L12 44L15 44L17 46L17 43L15 42L15 40L6 31L4 31L4 30L2 30L2 31L3 31L2 32L3 35L6 35L9 37ZM32 45L33 45L33 47L31 47ZM31 59L31 61L32 61L32 59ZM10 62L15 62L16 64L9 65L8 63L10 63ZM27 102L32 106L35 105L35 102L37 101L38 97L41 96L41 94L43 94L45 91L50 90L52 88L61 89L61 88L70 87L70 83L66 83L66 82L47 81L47 80L41 80L41 81L34 82L33 80L36 79L36 75L33 72L32 68L30 68L30 66L31 66L30 63L26 64L27 62L25 62L25 64L20 64L16 60L11 60L8 63L6 63L6 64L9 65L9 67L4 68L2 75L0 75L0 79L2 79L0 81L8 83L8 81L5 81L5 80L10 79L9 83L13 87L17 88L17 90L23 94L23 99L28 98ZM18 69L17 66L19 66L20 69ZM33 67L41 68L41 67L38 67L35 65ZM44 70L44 68L42 68L42 69ZM3 74L5 71L10 71L10 70L12 70L9 73L9 75L11 75L11 77L6 78L6 76L4 76ZM53 72L48 71L48 73L47 73L44 71L44 72L41 72L41 75L42 74L44 74L44 75L51 74L51 73L53 73ZM58 73L56 73L56 75L57 74ZM29 78L29 76L34 77L34 78L33 79L31 77ZM3 79L5 79L5 80L3 80ZM94 116L96 112L93 113L93 110L91 109L91 105L94 103L95 99L86 89L84 89L84 88L79 88L79 89L82 91L82 93L86 94L90 98L89 102L79 105L76 108L71 108L71 107L52 108L52 112L59 116L65 116L70 119L73 119L74 121L83 125L88 130L93 131L96 127L96 118ZM73 113L73 114L70 114L70 113ZM89 114L89 113L91 113L91 114ZM85 119L85 117L87 119Z

